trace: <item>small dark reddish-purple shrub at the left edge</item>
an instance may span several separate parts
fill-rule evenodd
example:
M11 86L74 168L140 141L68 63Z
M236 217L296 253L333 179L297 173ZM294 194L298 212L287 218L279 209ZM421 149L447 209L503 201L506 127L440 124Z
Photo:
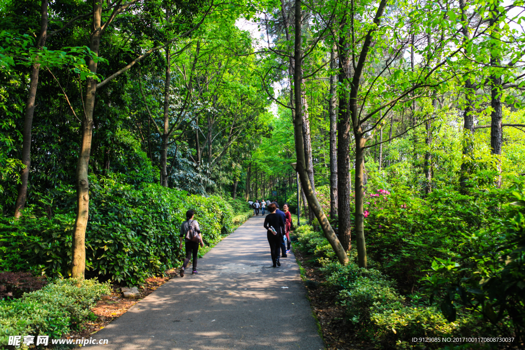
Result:
M20 298L26 292L36 291L47 284L43 276L29 272L0 272L0 299L6 296Z

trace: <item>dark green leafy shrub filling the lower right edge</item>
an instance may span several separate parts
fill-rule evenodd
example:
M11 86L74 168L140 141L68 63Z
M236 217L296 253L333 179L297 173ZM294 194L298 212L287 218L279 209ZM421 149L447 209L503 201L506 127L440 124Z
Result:
M507 217L491 230L458 241L475 246L460 259L432 261L424 280L449 321L466 307L489 322L500 336L525 341L525 191L513 188Z

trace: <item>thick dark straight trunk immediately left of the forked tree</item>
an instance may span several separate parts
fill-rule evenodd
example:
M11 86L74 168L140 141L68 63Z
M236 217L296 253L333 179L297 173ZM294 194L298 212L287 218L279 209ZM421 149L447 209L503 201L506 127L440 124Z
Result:
M343 19L346 21L346 18ZM337 122L337 192L338 202L338 224L339 239L345 251L352 247L351 221L352 208L350 206L350 106L349 92L352 79L352 64L348 48L350 39L341 35L339 39L339 118Z

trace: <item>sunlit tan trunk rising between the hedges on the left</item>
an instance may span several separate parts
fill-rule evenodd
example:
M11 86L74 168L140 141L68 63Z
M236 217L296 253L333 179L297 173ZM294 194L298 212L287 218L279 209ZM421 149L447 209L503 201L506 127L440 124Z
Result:
M93 1L93 27L89 36L89 48L95 55L99 54L100 37L102 28L100 26L102 14L102 2ZM91 72L97 72L97 62L88 60L88 68ZM82 118L82 141L77 162L77 218L73 231L71 244L72 253L72 278L84 278L86 271L86 228L89 217L89 154L91 152L91 137L93 131L93 112L95 110L95 96L97 93L97 81L93 78L86 79L86 105Z

